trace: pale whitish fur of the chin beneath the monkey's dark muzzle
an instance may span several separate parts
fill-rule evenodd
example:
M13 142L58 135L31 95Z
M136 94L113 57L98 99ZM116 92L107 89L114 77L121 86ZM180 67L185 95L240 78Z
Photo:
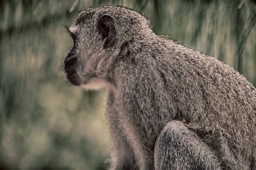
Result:
M80 86L86 90L101 90L114 88L114 86L110 82L102 79L91 79L86 84L82 84Z

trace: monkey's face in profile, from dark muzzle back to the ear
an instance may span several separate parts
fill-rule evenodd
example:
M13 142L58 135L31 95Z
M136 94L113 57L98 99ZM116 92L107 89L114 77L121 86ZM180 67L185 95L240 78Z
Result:
M74 45L64 61L67 79L79 86L109 82L114 56L111 50L114 50L116 41L113 17L105 13L83 11L68 31Z

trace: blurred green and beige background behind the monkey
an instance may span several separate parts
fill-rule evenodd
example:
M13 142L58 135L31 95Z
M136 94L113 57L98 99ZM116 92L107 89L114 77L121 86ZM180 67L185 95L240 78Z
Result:
M64 82L62 25L101 5L138 10L154 32L233 66L256 85L255 0L0 0L0 170L103 170L105 91Z

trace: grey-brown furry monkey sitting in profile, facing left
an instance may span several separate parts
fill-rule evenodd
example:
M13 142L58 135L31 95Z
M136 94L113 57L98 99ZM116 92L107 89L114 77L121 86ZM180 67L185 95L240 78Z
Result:
M111 170L256 170L256 89L234 68L122 6L87 8L68 31L67 79L108 92Z

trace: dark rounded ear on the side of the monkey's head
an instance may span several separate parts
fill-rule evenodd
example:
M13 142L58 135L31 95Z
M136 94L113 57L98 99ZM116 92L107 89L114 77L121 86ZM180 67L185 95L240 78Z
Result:
M104 47L110 47L113 45L116 38L116 26L114 18L109 14L103 14L99 17L98 31L102 36L102 40L105 40Z

